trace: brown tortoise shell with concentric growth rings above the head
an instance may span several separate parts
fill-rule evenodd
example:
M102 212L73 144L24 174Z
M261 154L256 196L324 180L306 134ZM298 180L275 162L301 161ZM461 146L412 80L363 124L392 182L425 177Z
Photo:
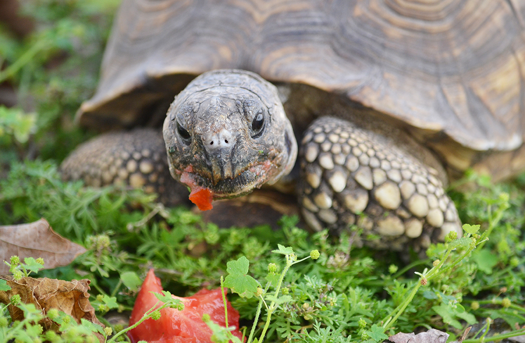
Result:
M124 0L78 119L141 125L196 75L244 69L342 94L499 179L525 166L524 18L519 0Z

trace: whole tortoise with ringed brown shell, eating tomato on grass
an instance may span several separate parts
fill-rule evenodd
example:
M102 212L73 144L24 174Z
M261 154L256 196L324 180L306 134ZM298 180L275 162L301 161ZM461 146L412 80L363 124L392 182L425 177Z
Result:
M297 180L314 230L421 250L461 234L448 178L524 169L523 18L505 0L124 0L77 120L127 131L61 170L172 203L189 187L203 209Z

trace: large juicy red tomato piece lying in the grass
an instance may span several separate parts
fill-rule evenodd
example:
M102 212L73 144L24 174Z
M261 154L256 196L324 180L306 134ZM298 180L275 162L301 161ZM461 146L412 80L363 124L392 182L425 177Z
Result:
M158 299L151 292L161 293L162 285L155 276L153 269L142 283L137 300L131 312L130 325L137 323L142 315L156 304ZM225 290L226 292L226 290ZM224 303L220 288L215 290L201 290L193 296L173 298L184 303L184 310L176 308L161 309L159 320L147 319L139 326L128 331L132 343L145 340L150 343L211 343L212 330L202 321L202 315L207 313L213 322L226 326L224 320ZM159 304L157 307L160 307ZM228 324L239 327L239 312L227 301ZM238 329L232 332L239 339L242 334Z

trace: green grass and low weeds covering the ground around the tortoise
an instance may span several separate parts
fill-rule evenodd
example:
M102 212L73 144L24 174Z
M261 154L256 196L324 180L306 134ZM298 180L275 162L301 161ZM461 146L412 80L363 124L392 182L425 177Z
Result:
M293 217L282 218L277 232L265 226L218 228L186 208L164 208L141 191L62 182L57 165L91 135L72 125L72 117L95 89L116 7L95 0L32 0L23 13L36 21L34 34L20 39L0 26L0 80L17 90L20 104L0 107L0 224L45 217L59 234L88 249L70 265L37 276L91 280L91 302L108 325L108 311L132 308L149 268L158 271L164 289L183 296L203 285L220 286L228 263L244 257L262 293L249 289L228 297L247 332L258 318L250 337L268 342L377 342L428 328L453 339L471 324L493 327L493 320L510 330L497 338L523 334L525 176L495 185L468 173L464 181L477 184L474 191L449 190L469 224L467 238L433 245L427 259L409 264L391 252L350 249L345 235L310 235ZM278 245L291 250L272 252ZM288 260L312 250L319 252L317 260ZM40 334L34 324L36 309L24 307L25 322L12 323L7 308L0 308L0 332L24 333L27 341L68 341L93 329L57 315L72 331L47 337L52 334ZM113 332L121 329L112 326ZM465 342L487 341L483 332Z

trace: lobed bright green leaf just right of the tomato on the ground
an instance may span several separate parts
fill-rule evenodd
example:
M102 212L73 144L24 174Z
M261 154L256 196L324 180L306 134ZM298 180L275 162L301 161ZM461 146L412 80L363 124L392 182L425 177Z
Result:
M225 287L246 298L251 298L259 286L254 278L247 275L249 265L250 262L244 256L239 257L237 261L229 261L226 263L226 271L229 275L224 279Z

